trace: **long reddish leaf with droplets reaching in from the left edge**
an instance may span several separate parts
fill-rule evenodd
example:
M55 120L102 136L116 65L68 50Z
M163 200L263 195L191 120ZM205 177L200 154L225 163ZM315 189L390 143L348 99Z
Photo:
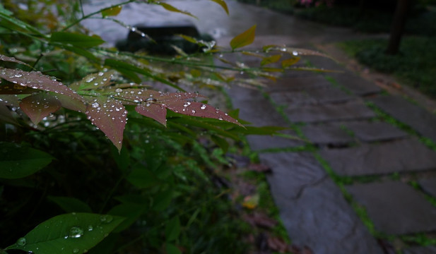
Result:
M66 87L59 81L40 71L23 71L19 69L10 69L0 67L0 78L4 78L14 84L31 87L33 89L45 90L47 92L56 92L60 95L67 95L83 101L83 98L76 92Z

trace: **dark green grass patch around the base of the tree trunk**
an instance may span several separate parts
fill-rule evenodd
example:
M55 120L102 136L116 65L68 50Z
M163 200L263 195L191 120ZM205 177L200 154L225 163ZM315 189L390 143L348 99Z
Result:
M360 63L395 75L404 84L436 98L436 37L404 37L399 54L384 54L387 40L359 40L339 44Z

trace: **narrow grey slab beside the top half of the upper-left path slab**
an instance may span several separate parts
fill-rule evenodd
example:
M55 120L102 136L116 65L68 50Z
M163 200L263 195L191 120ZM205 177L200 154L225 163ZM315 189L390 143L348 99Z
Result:
M304 105L304 104L327 104L341 103L355 99L353 95L348 95L343 90L336 87L307 87L304 91L281 91L271 92L271 98L277 104Z

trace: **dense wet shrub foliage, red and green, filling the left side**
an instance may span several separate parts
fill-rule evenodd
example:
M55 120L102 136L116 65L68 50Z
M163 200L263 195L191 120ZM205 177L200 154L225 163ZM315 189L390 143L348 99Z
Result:
M211 1L228 11L225 1ZM100 47L104 41L81 28L81 20L116 17L129 2L87 15L81 1L0 5L0 253L246 250L247 225L213 179L244 134L281 128L249 126L237 110L221 111L187 89L256 87L297 70L298 55L322 54L274 45L246 51L255 26L230 49L184 36L201 50L176 47L172 57Z

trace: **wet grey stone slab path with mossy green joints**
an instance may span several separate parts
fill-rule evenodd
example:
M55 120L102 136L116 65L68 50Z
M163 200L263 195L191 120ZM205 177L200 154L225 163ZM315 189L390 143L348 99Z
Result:
M305 60L344 72L285 73L264 90L228 91L241 119L300 133L297 139L247 138L271 167L271 193L293 244L316 254L387 253L391 243L382 246L351 203L365 208L377 234L436 231L429 201L436 198L436 152L419 139L436 143L436 115L330 59ZM403 253L436 253L435 246L401 247Z

